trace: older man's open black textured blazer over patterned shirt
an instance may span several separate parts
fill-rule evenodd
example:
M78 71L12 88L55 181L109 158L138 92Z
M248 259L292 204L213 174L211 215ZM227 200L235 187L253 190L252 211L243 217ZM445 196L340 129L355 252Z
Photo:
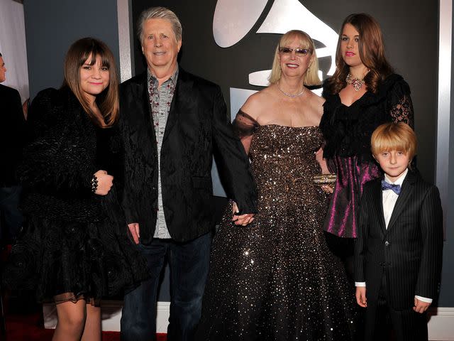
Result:
M140 241L149 244L157 218L158 163L147 72L121 84L120 115L125 148L123 208L128 223L139 223ZM228 196L240 212L255 212L248 156L233 133L220 87L180 67L160 157L165 221L177 242L214 227L213 155Z

